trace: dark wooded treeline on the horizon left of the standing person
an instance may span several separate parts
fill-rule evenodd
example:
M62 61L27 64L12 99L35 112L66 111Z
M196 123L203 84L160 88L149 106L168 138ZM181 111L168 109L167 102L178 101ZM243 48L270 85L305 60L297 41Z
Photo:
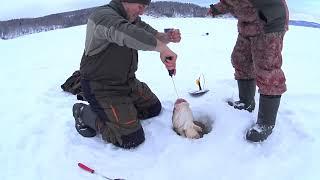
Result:
M88 8L38 18L21 18L0 21L0 38L13 39L19 36L49 31L59 28L83 25L97 8ZM205 17L207 8L190 3L152 2L145 14L155 17Z

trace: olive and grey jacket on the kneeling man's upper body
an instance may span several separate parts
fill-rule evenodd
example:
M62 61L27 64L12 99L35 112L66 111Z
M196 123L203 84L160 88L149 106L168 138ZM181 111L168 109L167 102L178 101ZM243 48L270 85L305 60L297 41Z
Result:
M128 90L138 66L137 50L154 50L156 33L140 17L129 22L119 0L97 8L87 23L81 77L103 84L104 90Z

